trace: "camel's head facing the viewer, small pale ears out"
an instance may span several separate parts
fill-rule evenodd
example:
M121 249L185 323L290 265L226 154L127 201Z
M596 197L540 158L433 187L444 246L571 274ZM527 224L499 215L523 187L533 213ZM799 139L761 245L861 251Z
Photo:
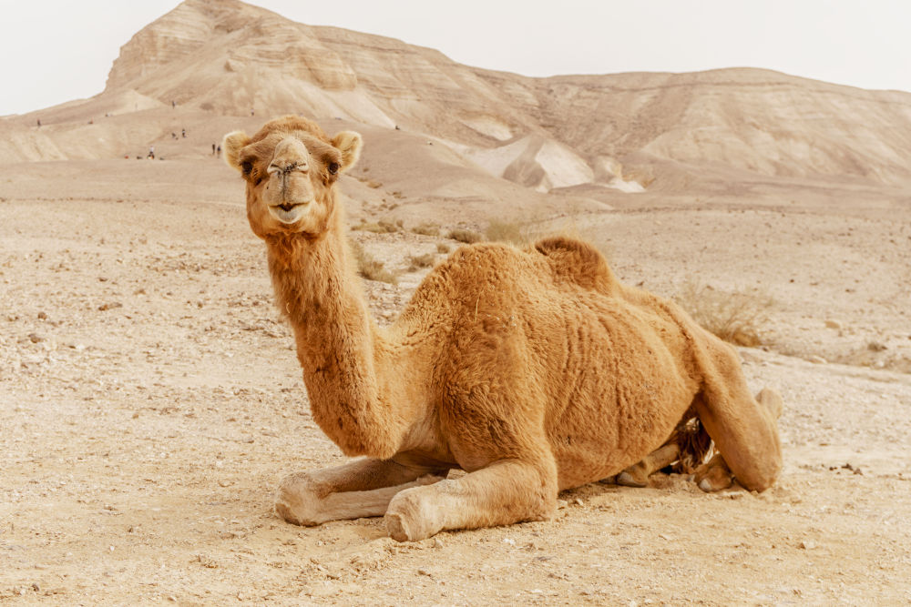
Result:
M318 238L338 212L333 186L361 154L361 136L330 139L301 116L270 120L253 136L233 131L222 144L225 162L247 182L247 218L260 238Z

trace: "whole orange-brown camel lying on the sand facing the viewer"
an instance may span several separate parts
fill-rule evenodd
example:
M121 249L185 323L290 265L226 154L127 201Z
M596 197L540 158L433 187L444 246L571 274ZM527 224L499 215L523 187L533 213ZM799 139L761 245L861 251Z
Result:
M385 515L395 540L414 541L548 519L558 491L642 460L688 412L722 454L697 474L703 488L731 474L752 490L773 483L778 395L754 400L732 348L670 301L621 285L585 242L459 248L379 328L335 191L361 143L299 116L224 139L313 419L365 456L288 476L275 505L286 521ZM467 473L445 479L451 469Z

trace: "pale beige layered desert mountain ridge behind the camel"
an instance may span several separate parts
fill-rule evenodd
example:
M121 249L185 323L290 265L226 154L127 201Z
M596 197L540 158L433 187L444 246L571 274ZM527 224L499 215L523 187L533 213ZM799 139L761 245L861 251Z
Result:
M0 157L120 157L181 128L216 140L251 112L251 125L295 112L398 126L462 170L602 199L770 178L911 184L909 93L752 68L530 78L238 0L187 0L121 48L98 96L6 118Z

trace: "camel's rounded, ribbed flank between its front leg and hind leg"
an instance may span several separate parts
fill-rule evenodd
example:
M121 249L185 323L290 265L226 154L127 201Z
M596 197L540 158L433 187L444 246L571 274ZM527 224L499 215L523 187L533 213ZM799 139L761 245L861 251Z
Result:
M560 489L617 474L658 449L698 390L676 326L639 310L576 316L560 353L564 390L546 421Z

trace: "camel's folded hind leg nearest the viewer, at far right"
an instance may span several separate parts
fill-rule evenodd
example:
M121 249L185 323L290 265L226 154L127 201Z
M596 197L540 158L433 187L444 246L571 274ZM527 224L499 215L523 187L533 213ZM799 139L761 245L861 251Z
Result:
M764 491L782 468L781 396L773 389L763 389L753 398L736 352L713 337L705 345L708 348L702 354L706 359L700 360L703 388L693 407L720 457L697 471L696 480L703 491L723 489L727 469L743 487Z

